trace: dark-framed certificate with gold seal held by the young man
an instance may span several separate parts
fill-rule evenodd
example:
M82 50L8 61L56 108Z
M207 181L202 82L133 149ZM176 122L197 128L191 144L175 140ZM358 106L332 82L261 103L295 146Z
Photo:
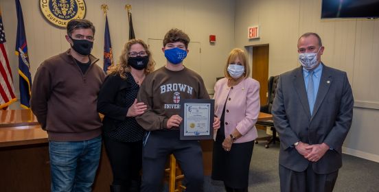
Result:
M181 117L181 140L213 139L213 99L181 99Z

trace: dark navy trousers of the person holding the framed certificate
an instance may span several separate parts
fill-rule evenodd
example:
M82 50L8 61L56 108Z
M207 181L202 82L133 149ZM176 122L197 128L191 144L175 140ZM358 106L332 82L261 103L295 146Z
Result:
M185 176L186 192L203 191L203 152L198 141L181 141L179 130L150 132L142 157L141 191L161 191L165 163L174 154Z

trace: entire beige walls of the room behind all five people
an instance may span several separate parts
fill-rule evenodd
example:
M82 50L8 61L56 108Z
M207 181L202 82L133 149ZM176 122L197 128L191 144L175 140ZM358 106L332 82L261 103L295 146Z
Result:
M57 53L69 48L65 29L47 23L37 1L20 0L23 6L31 72ZM379 161L379 21L366 19L321 20L320 0L87 0L86 19L93 21L97 32L93 54L102 60L104 14L102 3L109 6L114 56L117 60L128 39L124 5L133 6L133 24L137 38L146 42L163 38L165 32L178 27L200 47L200 64L196 70L203 75L209 93L213 93L216 77L233 47L270 45L269 75L277 75L298 66L297 38L304 32L317 32L323 38L323 62L347 71L356 100L352 129L345 141L345 152ZM14 1L0 0L3 23L8 40L8 56L18 93L18 61L14 56L16 10ZM260 25L261 38L248 40L247 27ZM216 34L217 43L210 45L209 34ZM152 50L161 54L160 50ZM191 51L190 51L191 53ZM159 55L161 57L161 55ZM156 56L158 58L158 56ZM102 66L102 62L99 62ZM11 108L18 108L13 104Z

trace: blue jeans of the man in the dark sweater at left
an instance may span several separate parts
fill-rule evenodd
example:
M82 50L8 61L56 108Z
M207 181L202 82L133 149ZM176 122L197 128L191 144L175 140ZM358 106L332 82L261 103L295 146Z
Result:
M87 141L49 141L51 191L92 191L102 137Z

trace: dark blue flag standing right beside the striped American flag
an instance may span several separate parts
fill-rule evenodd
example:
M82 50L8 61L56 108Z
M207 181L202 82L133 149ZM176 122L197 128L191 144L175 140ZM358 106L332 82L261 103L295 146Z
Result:
M30 95L32 94L32 75L30 74L29 56L27 55L27 43L25 27L23 23L23 11L19 0L16 1L17 11L17 37L16 55L19 56L19 77L20 77L20 103L22 108L30 108Z

